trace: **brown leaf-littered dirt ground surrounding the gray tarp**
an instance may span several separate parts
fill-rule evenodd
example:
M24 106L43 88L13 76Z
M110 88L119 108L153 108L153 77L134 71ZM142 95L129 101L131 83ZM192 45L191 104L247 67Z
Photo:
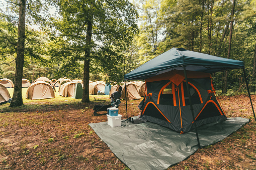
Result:
M140 114L140 101L128 101L128 117ZM256 169L256 123L248 96L223 96L220 101L228 117L250 122L168 169ZM256 106L255 95L252 101ZM89 104L29 107L33 104L0 110L0 169L129 169L88 125L107 121L106 112L94 116L93 106L109 101L96 97ZM125 119L125 101L119 112Z

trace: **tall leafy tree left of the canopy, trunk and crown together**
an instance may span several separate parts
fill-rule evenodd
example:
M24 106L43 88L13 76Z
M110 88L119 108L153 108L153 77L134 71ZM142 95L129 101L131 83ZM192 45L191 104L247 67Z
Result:
M116 70L119 74L117 63L97 60L103 61L108 56L122 59L119 54L132 40L130 32L137 31L137 12L128 0L59 0L54 3L60 15L58 19L52 19L54 22L51 21L57 31L56 36L65 39L72 49L83 53L83 57L78 55L75 60L84 62L82 102L89 102L90 66L99 63L103 71Z

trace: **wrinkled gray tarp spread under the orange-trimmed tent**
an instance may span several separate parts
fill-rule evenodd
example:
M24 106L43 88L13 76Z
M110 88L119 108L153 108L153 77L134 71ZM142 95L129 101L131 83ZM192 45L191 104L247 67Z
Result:
M198 127L201 146L226 138L248 121L249 119L236 117ZM151 122L122 122L119 127L111 127L108 122L89 125L131 169L166 169L198 149L196 133L193 131L180 134Z

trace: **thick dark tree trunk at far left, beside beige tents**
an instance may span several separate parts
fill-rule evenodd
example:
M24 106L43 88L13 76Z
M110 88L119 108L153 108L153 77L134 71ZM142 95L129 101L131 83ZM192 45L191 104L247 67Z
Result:
M17 42L17 57L16 70L14 78L14 93L10 107L23 105L22 100L22 76L24 65L25 51L25 16L26 16L26 1L20 0L19 9L19 24L18 24L18 42Z

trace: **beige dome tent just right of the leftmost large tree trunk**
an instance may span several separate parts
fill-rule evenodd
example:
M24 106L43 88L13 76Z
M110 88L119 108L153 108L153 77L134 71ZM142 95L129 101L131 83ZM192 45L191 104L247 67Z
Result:
M54 98L55 95L50 84L43 81L37 81L29 86L25 97L34 100Z

